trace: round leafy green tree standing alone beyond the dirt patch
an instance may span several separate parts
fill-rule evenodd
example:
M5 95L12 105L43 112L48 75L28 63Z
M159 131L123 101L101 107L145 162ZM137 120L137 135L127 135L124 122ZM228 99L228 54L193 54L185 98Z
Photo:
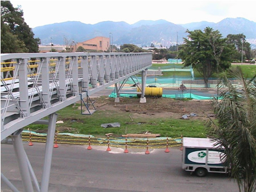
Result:
M231 65L233 46L226 43L220 32L212 28L204 31L187 30L188 39L180 46L179 58L184 61L184 66L190 66L204 77L205 87L208 87L208 79L214 72L226 70Z

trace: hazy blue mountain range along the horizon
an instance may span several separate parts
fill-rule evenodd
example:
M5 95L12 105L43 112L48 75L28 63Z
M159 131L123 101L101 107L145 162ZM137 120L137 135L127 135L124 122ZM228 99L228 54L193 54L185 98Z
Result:
M113 35L113 43L117 45L150 45L151 42L174 44L178 41L181 43L183 37L187 37L185 32L187 29L203 30L205 27L220 31L223 37L228 34L243 33L246 39L256 39L256 23L245 18L226 18L218 23L203 21L188 24L174 24L163 19L140 20L134 24L112 21L96 24L63 22L35 27L32 31L35 37L39 37L42 45L48 45L51 42L63 45L64 38L82 42L96 36L109 37L110 33Z

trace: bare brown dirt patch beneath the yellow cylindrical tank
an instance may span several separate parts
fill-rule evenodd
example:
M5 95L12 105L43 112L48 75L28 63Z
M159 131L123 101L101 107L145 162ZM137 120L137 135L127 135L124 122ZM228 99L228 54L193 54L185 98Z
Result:
M209 100L175 100L168 98L146 98L146 103L139 103L139 98L121 98L115 103L114 98L93 98L97 110L129 111L136 113L137 117L144 118L181 118L184 114L195 113L196 118L213 116ZM188 117L189 118L189 117Z

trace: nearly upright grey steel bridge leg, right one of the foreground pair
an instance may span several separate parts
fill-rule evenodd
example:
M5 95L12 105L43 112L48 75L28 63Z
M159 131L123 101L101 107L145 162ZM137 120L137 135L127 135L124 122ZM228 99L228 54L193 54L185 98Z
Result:
M49 125L48 125L48 133L46 140L46 156L44 157L44 168L43 168L43 176L41 182L41 192L47 192L49 187L49 176L51 170L52 163L52 150L53 150L53 142L55 136L55 127L56 127L57 114L52 113L49 115Z

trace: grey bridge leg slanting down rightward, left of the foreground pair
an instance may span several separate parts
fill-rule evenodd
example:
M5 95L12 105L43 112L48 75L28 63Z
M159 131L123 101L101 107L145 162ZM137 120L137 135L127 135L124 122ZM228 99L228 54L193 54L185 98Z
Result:
M13 146L16 158L19 164L20 175L22 177L22 185L24 191L33 192L32 180L30 177L30 172L28 170L27 164L27 156L23 147L22 137L21 137L22 129L16 131L13 135L11 135L11 139L13 139Z

